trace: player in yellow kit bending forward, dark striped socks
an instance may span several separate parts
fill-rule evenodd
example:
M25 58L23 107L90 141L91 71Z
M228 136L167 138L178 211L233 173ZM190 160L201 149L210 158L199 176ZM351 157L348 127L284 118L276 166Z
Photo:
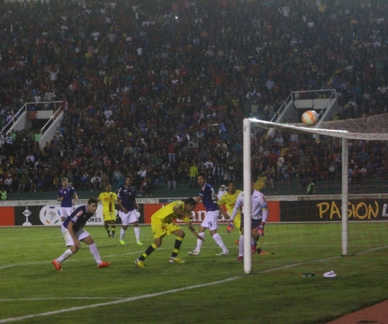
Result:
M153 251L162 245L162 239L164 236L171 233L175 234L177 237L174 244L174 251L171 253L170 263L184 263L185 261L183 261L181 258L178 258L178 252L186 234L183 232L181 227L173 222L173 220L178 218L182 219L183 222L188 222L188 228L191 232L193 232L197 239L205 241L202 236L195 232L193 224L191 224L193 216L190 214L190 212L194 210L196 205L197 203L193 198L186 199L184 203L181 200L176 200L155 212L151 217L151 227L152 234L154 235L154 243L148 246L147 250L145 250L145 252L137 260L135 260L135 265L139 268L144 268L144 260L150 256Z

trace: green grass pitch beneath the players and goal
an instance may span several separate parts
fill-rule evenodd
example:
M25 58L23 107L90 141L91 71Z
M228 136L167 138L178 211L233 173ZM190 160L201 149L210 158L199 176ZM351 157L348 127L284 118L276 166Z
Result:
M270 254L253 256L250 275L243 275L243 263L236 261L236 231L226 234L225 225L219 233L229 256L215 256L220 249L208 232L200 256L188 256L196 239L183 226L179 256L186 263L169 263L171 235L147 258L145 269L135 268L133 260L152 242L150 227L141 228L141 247L135 245L132 227L125 246L118 237L108 238L103 227L86 229L102 260L112 263L109 268L98 269L81 243L81 250L62 263L63 271L56 271L51 260L65 250L59 227L0 228L0 323L20 316L32 317L19 323L79 323L81 318L83 323L325 323L388 296L385 222L349 224L351 255L346 257L338 223L267 224L260 246ZM322 277L329 270L337 277ZM301 277L301 272L315 272L315 277ZM232 280L144 296L227 278ZM143 297L123 301L138 296ZM68 311L113 301L119 303ZM36 316L59 310L66 311Z

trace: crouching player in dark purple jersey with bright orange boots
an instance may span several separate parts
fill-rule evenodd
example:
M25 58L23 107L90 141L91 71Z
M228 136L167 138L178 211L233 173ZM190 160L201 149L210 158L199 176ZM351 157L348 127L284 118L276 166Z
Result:
M66 246L69 248L63 252L59 258L52 260L52 264L56 270L62 270L61 263L78 252L81 247L80 241L83 241L89 246L90 253L92 253L92 256L95 258L98 268L105 268L111 264L101 260L95 241L92 239L92 236L83 229L87 220L95 215L97 203L97 199L90 198L87 201L87 205L75 209L63 222L61 227L63 239L65 239Z

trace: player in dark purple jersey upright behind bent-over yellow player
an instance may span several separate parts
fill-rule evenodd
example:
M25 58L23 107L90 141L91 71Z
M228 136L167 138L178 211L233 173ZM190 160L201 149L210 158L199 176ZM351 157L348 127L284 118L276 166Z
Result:
M210 184L207 184L206 176L203 173L198 174L198 185L201 187L201 191L198 194L198 197L195 198L195 201L197 203L202 199L202 203L205 206L206 209L206 215L205 219L202 221L202 224L200 225L200 230L198 235L202 237L202 239L205 239L205 229L210 230L210 235L212 235L212 238L220 248L222 248L222 253L217 254L217 256L226 256L229 254L228 249L226 248L224 241L222 241L221 236L217 233L218 229L218 219L220 217L219 212L224 215L224 217L227 217L224 210L221 206L217 204L217 196L214 192L214 189ZM200 254L200 249L202 246L202 240L197 240L197 247L193 251L189 251L188 254L190 256L198 256Z

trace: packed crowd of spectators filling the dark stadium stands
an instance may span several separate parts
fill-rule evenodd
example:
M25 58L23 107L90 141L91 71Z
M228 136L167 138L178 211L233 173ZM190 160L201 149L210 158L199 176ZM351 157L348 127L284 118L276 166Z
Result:
M201 170L214 186L238 181L243 117L271 119L294 90L335 88L337 119L387 112L383 0L2 0L0 16L2 126L25 102L64 100L65 114L44 150L34 130L2 134L11 192L55 191L65 176L101 191L132 174L149 195L195 186ZM386 172L384 145L351 143L353 169ZM306 186L336 174L340 148L257 131L253 172Z

